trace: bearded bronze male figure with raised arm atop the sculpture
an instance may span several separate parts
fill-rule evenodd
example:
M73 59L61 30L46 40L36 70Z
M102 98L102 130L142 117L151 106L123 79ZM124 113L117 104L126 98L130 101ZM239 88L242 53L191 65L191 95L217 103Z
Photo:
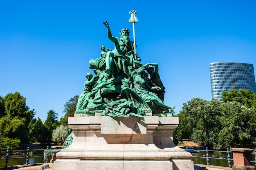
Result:
M130 31L126 28L120 31L121 38L113 37L109 28L108 22L103 22L107 27L108 38L115 43L115 49L113 51L108 51L106 53L106 69L105 73L108 75L113 74L113 72L119 73L122 67L122 58L126 59L128 63L132 63L133 53L134 53L134 43L130 41L129 33ZM112 68L113 60L116 60L117 67ZM112 69L111 69L112 68Z

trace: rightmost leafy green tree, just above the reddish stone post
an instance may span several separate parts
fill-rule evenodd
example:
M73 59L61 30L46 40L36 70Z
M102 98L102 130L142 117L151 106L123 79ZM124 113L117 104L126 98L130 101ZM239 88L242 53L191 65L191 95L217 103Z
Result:
M221 104L220 124L216 148L241 147L255 139L255 108L246 108L238 102Z

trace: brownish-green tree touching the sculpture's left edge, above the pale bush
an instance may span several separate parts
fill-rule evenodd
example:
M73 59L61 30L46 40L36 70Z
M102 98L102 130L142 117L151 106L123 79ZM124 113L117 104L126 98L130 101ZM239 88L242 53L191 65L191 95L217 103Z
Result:
M67 101L66 104L64 104L65 115L63 117L61 117L61 119L59 121L60 124L67 125L68 117L74 117L78 98L79 98L79 96L75 95L69 101Z

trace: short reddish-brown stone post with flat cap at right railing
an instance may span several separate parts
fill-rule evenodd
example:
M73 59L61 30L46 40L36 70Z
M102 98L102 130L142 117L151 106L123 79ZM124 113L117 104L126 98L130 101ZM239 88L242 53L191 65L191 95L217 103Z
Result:
M232 170L255 170L250 160L252 160L252 149L231 148L233 153L234 166Z

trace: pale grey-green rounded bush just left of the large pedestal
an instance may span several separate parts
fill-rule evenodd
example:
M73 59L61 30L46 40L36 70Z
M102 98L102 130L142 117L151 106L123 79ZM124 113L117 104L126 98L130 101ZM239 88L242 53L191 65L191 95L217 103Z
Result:
M68 126L61 125L52 132L52 140L56 143L63 144L67 136L72 132Z

